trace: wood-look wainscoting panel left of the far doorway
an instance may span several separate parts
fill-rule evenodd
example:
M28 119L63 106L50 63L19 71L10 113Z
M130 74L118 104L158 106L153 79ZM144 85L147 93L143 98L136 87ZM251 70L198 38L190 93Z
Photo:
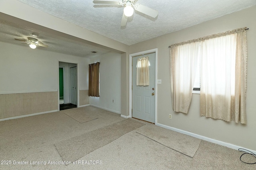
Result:
M58 92L0 94L0 119L58 110Z

